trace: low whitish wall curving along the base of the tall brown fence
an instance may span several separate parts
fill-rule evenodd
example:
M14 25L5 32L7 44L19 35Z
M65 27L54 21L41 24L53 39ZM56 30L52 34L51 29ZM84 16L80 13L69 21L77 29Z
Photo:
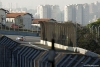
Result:
M51 46L52 44L51 42L45 41L45 40L40 40L40 43L47 46ZM55 48L60 48L60 49L69 50L73 52L76 52L76 49L77 49L77 52L81 54L85 54L92 57L98 57L98 54L91 52L89 50L83 49L83 48L79 48L79 47L70 47L70 46L64 46L64 45L55 43Z

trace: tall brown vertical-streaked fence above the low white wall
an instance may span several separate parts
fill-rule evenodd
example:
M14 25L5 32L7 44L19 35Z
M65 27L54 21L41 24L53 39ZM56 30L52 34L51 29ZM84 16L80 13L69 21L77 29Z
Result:
M76 46L76 25L56 22L40 22L41 40L50 41L54 38L55 42L65 46Z

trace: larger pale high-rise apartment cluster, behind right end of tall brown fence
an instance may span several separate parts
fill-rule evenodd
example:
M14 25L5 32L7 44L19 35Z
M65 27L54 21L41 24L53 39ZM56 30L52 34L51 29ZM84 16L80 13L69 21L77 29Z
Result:
M89 23L89 5L76 4L64 7L64 21L72 21L81 25Z

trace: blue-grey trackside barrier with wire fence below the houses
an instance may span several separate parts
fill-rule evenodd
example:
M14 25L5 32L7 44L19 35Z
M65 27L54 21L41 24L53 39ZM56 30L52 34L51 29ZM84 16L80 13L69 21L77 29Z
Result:
M14 29L7 26L0 26L0 33L4 35L39 36L40 31L20 28Z

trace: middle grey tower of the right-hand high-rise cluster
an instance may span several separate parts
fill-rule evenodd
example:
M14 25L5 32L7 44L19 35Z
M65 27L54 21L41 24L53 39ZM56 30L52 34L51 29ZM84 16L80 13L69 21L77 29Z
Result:
M77 4L76 5L76 22L82 24L82 12L83 12L83 5Z

